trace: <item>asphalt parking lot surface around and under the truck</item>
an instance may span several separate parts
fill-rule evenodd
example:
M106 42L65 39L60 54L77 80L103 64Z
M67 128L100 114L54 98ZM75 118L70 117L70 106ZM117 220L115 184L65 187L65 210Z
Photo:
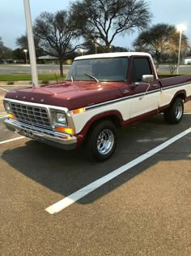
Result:
M1 255L191 255L191 102L180 124L158 115L120 131L112 158L95 163L6 130L2 98L13 88L0 87Z

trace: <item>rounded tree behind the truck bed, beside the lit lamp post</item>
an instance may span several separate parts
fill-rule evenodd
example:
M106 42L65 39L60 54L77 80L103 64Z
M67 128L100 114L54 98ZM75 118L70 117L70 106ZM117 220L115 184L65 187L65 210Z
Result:
M182 54L188 49L188 38L183 34L181 41ZM151 28L140 33L134 41L137 51L146 51L152 54L156 60L156 69L159 70L159 63L164 54L173 55L178 53L179 33L175 26L169 24L155 24ZM181 54L181 55L182 55Z

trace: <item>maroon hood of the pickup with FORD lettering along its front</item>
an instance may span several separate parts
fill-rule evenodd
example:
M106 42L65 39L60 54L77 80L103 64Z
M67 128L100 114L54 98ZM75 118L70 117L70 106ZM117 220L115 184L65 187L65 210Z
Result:
M43 86L37 89L18 89L6 93L6 98L63 106L73 110L83 106L106 102L122 96L124 82L74 81Z

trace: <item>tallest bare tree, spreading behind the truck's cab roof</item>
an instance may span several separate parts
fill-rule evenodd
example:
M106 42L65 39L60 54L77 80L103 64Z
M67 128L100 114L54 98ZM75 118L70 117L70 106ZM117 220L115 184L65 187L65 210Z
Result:
M133 33L136 28L142 30L152 17L144 0L76 1L71 11L80 33L100 46L104 44L108 52L118 34Z

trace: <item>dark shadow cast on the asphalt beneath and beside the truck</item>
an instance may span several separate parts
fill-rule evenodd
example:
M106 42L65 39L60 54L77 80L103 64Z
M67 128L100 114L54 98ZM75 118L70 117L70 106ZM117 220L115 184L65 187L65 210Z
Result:
M188 118L190 119L190 117ZM117 151L112 158L104 163L89 161L83 149L63 151L36 141L28 141L25 145L5 150L2 153L2 159L15 171L19 171L29 179L67 197L189 128L188 118L184 119L181 124L173 126L173 129L172 126L163 123L161 116L157 116L119 131ZM142 141L142 139L144 140ZM182 140L181 145L184 145L185 140L189 140L190 144L191 133L180 140ZM100 189L96 189L95 192L81 199L79 203L94 202L160 161L191 160L190 147L185 150L182 147L180 151L178 144L170 145L169 148L163 150L165 154L156 154L121 176L117 176Z

